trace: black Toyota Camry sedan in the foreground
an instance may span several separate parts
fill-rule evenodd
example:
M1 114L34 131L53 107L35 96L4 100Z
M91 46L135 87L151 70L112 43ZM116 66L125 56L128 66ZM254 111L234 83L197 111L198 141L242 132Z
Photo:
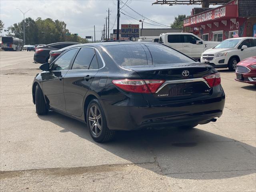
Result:
M80 44L40 69L32 85L37 114L50 109L86 122L96 142L115 130L192 128L224 108L218 71L158 43Z

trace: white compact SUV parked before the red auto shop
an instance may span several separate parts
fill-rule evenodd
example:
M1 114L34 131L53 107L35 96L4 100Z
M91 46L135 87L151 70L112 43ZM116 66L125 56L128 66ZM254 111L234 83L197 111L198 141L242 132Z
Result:
M236 64L245 58L256 55L256 38L238 37L226 39L201 55L201 62L215 68L236 70Z

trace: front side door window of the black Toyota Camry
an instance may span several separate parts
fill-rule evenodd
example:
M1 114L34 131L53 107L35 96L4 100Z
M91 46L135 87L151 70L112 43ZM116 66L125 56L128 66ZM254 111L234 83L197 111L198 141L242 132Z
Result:
M53 66L52 66L52 70L68 69L70 61L74 57L76 51L77 51L77 48L71 49L71 50L67 51L66 53L64 53L62 56L60 56L60 58L58 58L58 60L56 60L56 62L54 62Z

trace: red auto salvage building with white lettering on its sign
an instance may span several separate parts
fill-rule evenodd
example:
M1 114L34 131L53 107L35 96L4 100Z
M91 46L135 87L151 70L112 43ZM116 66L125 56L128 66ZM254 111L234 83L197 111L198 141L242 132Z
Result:
M194 14L184 20L184 32L193 32L203 40L209 41L233 38L234 32L239 37L253 36L256 15L250 13L251 15L245 17L246 15L243 15L242 12L243 6L241 6L241 10L239 10L239 6L238 0L232 0L224 6ZM254 6L250 8L254 9Z

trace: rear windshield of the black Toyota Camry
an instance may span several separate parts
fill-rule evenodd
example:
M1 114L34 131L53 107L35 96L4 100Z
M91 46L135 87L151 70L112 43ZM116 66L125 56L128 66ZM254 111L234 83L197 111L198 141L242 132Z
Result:
M114 61L121 66L140 66L195 62L162 44L121 44L106 46Z

